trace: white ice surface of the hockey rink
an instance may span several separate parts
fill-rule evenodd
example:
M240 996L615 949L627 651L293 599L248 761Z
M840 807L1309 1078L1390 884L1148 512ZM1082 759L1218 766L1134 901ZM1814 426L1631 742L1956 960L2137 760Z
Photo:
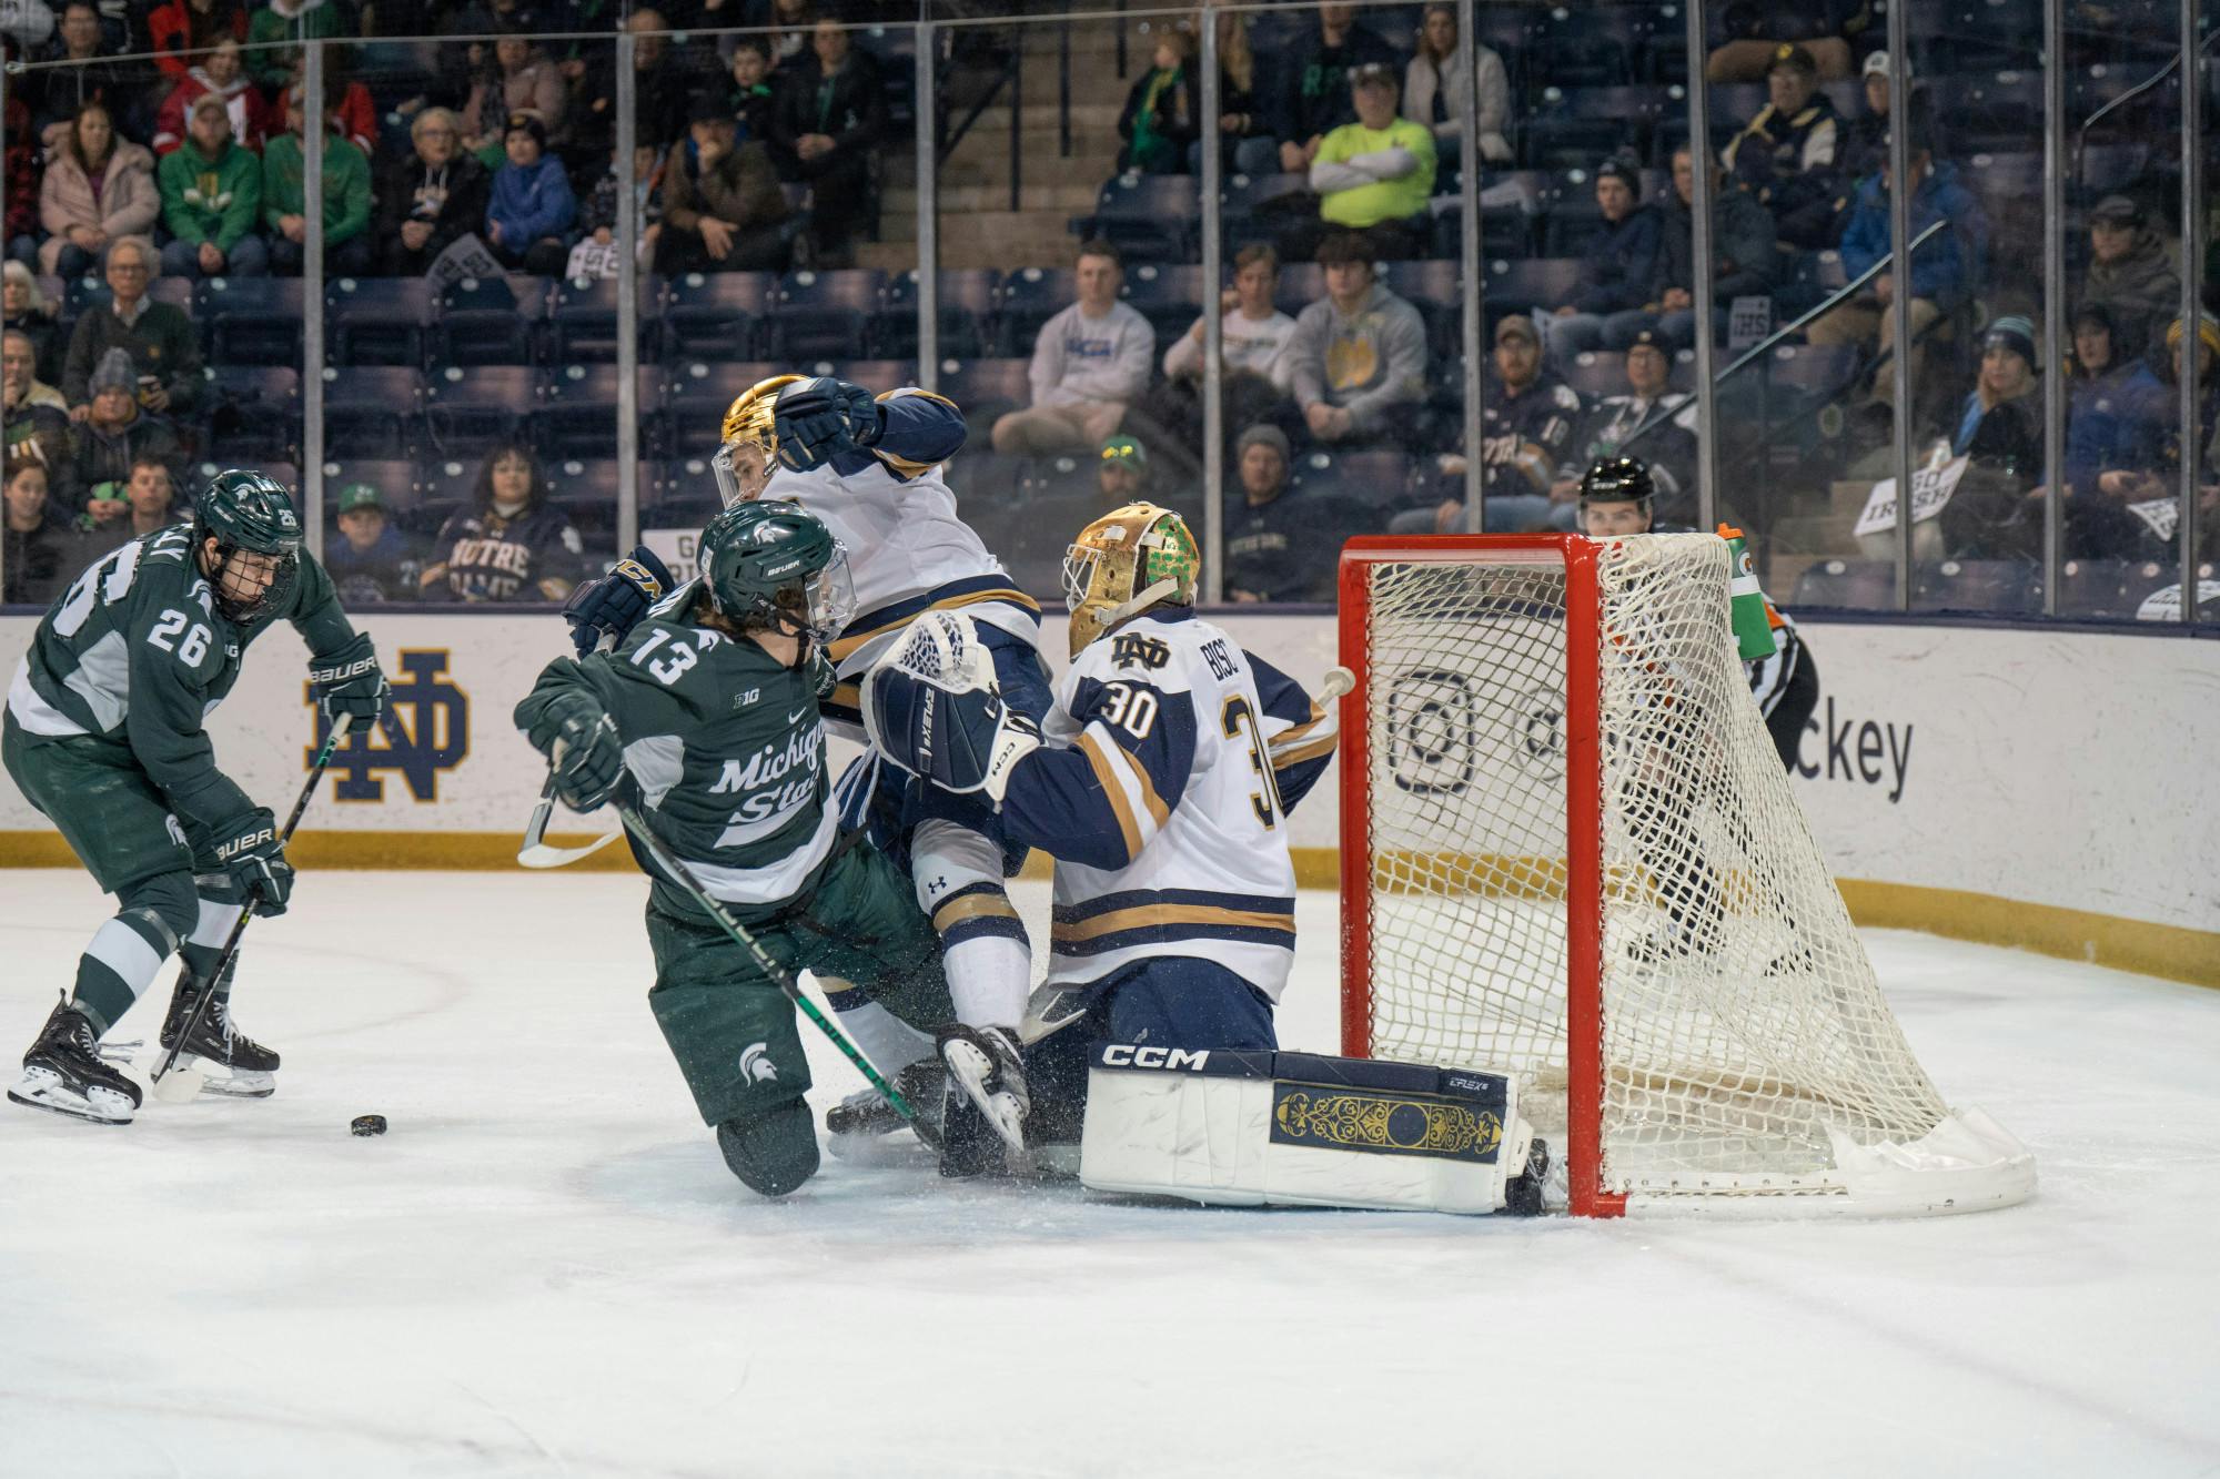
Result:
M0 879L13 1077L111 904ZM278 1097L0 1104L0 1475L2220 1475L2220 993L1865 933L1945 1097L2036 1153L1978 1217L1205 1210L830 1157L768 1204L648 1017L644 891L306 873L238 986ZM1281 1035L1332 1050L1332 895L1299 922ZM824 1108L861 1079L804 1035Z

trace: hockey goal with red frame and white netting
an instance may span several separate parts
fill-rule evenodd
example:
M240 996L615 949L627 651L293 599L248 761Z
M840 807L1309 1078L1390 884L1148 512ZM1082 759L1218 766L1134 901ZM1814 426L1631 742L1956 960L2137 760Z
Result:
M1965 1210L2025 1150L1920 1070L1789 793L1714 535L1356 540L1343 1050L1516 1070L1572 1210Z

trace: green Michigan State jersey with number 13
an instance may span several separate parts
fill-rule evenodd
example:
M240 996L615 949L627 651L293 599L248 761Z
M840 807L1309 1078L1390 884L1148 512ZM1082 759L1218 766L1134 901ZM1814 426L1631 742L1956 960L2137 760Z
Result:
M815 655L786 668L748 637L693 624L695 591L679 586L613 653L551 662L515 722L531 728L566 688L591 693L624 742L622 795L710 897L748 917L806 895L833 855L817 713L830 668ZM699 913L633 855L664 908Z

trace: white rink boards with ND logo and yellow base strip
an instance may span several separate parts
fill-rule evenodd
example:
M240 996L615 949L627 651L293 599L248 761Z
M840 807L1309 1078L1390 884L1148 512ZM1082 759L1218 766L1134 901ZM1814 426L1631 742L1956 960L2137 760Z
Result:
M542 782L508 711L568 651L555 615L357 615L395 684L395 733L353 740L295 842L304 866L502 868ZM1225 615L1316 686L1325 615ZM0 617L13 675L33 617ZM2220 642L2034 626L1803 624L1820 671L1796 793L1860 924L2220 986ZM1061 666L1063 622L1048 651ZM211 728L282 811L306 773L306 651L262 637ZM1294 817L1310 884L1334 882L1332 777ZM582 837L582 833L579 833ZM0 866L67 866L0 775ZM628 868L619 848L582 866Z

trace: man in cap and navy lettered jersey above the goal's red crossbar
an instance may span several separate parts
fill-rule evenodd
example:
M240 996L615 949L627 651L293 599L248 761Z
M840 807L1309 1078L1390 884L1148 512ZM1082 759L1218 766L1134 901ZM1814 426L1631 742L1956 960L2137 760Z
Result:
M1496 355L1481 391L1481 526L1487 533L1572 531L1578 524L1574 497L1552 497L1556 469L1565 460L1581 420L1581 398L1543 369L1541 331L1534 320L1512 313L1496 324ZM1456 482L1434 509L1412 509L1388 522L1390 533L1454 533L1465 526L1465 455L1439 460L1441 477Z

